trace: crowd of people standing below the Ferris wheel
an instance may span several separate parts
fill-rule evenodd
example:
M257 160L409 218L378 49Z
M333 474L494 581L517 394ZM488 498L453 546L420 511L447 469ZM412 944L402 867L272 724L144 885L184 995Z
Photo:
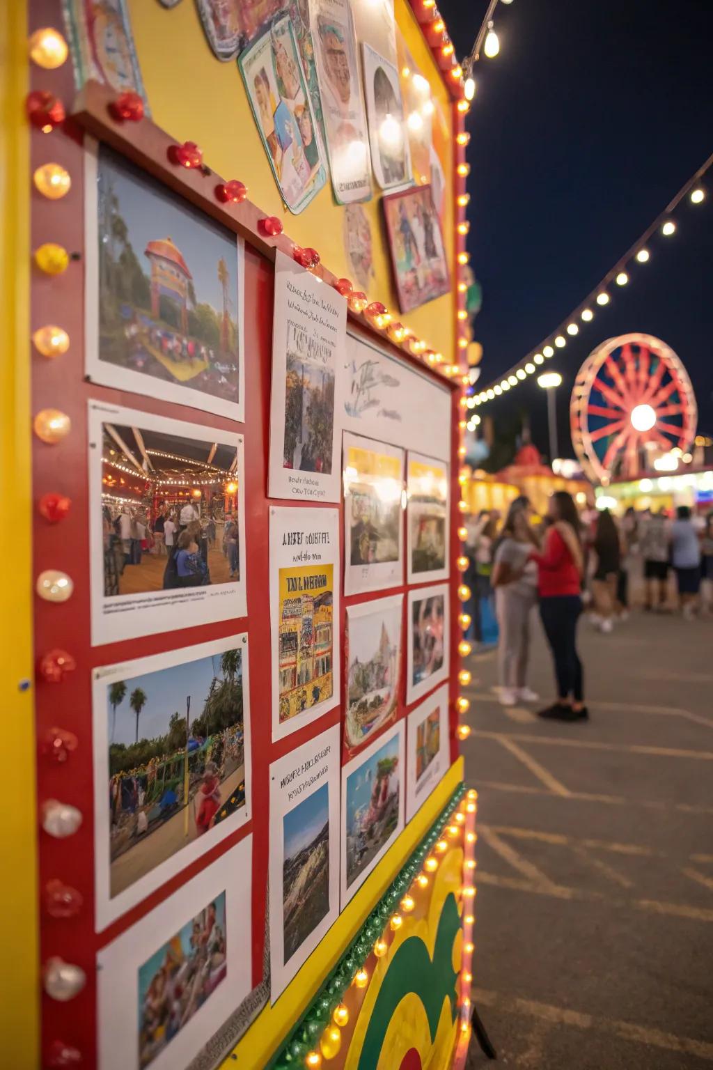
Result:
M580 515L572 495L558 490L544 518L521 495L502 523L496 510L482 510L467 529L474 635L482 638L482 607L493 605L499 632L499 697L506 706L538 700L527 684L536 605L557 683L557 700L539 716L565 721L589 716L577 651L579 618L587 611L590 624L604 633L613 631L615 621L626 620L635 570L642 572L645 611L672 611L671 571L685 620L713 610L713 511L702 517L680 505L673 517L650 508L629 508L621 519L608 509Z

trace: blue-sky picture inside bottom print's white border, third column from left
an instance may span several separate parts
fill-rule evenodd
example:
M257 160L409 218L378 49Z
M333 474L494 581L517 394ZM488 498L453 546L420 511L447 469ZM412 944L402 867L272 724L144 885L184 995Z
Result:
M376 857L399 824L399 735L346 778L346 887Z

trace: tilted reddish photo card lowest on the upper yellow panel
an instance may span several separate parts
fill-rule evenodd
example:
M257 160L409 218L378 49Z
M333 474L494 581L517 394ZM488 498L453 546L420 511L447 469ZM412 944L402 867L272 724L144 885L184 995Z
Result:
M409 312L450 289L448 263L431 186L384 197L399 307Z

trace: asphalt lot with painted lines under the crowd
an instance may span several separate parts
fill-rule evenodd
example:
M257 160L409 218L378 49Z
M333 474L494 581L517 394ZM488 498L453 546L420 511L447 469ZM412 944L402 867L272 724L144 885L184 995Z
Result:
M495 657L470 659L474 1002L511 1067L712 1070L713 623L580 633L588 723L503 709Z

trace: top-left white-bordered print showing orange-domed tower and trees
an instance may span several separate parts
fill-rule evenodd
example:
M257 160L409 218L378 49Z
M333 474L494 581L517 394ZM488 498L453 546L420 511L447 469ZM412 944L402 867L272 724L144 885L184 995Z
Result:
M87 378L242 422L242 239L106 146L84 149Z

